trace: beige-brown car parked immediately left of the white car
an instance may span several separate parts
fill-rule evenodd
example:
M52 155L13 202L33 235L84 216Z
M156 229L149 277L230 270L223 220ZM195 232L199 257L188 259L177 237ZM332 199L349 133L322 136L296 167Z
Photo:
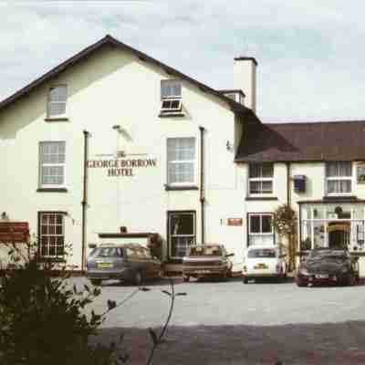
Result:
M190 277L215 276L226 279L232 276L233 263L224 245L191 245L183 257L183 281Z

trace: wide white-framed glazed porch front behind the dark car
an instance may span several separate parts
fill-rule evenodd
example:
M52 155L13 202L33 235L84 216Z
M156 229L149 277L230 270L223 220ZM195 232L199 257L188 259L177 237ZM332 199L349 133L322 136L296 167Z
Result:
M300 207L300 250L364 250L365 204L318 203Z

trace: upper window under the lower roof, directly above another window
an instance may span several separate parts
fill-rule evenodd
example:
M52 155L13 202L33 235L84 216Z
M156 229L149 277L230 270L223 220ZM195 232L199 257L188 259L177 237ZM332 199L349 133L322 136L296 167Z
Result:
M273 163L250 163L249 171L250 194L273 193Z

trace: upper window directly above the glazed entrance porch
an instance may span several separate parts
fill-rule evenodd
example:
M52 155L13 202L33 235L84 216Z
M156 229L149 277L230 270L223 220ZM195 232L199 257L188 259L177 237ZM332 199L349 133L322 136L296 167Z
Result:
M328 194L351 193L352 164L351 162L327 162L326 181Z

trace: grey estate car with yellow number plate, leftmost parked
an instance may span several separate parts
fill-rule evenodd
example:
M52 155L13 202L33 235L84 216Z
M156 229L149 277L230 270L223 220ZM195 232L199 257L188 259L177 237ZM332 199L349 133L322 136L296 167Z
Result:
M102 244L88 257L87 276L94 285L107 279L141 285L145 279L162 277L162 264L142 245Z

